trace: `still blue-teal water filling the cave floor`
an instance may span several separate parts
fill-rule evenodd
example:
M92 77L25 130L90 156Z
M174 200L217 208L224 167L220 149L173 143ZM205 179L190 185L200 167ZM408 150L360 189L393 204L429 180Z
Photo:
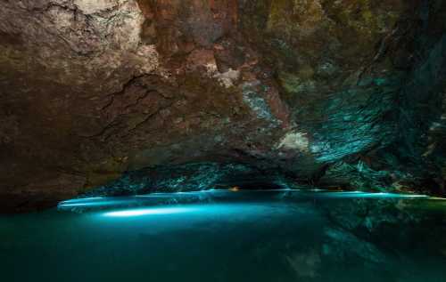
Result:
M416 195L74 199L0 238L2 281L446 281L446 201Z

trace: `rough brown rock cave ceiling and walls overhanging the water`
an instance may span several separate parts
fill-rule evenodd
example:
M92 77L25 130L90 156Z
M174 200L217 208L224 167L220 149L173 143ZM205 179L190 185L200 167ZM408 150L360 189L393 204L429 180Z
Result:
M210 162L444 194L445 16L442 0L1 0L0 197L139 169L150 191Z

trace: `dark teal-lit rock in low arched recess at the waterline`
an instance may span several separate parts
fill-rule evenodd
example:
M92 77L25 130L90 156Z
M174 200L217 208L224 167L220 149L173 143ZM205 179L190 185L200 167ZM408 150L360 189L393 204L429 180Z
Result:
M289 189L293 180L256 166L225 163L159 165L125 173L118 181L87 192L89 197L205 189Z

